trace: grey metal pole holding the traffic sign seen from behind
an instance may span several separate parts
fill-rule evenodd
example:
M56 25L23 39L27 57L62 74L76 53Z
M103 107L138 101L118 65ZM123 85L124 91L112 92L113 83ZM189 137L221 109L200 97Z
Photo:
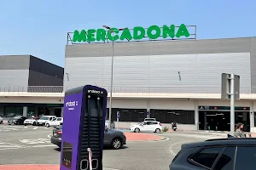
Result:
M230 74L230 135L235 133L235 74Z

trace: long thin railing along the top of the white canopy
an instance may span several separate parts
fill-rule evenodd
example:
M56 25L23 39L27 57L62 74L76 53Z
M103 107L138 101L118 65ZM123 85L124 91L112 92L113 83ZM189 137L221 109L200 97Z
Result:
M62 93L76 87L63 86L0 86L0 92ZM108 93L110 87L106 88ZM241 94L256 94L256 87L241 87ZM113 93L220 94L217 86L113 87Z

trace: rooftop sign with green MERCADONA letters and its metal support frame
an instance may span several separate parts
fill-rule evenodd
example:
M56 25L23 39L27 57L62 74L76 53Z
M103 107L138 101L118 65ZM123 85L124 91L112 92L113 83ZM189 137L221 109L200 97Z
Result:
M192 29L191 29L192 28ZM130 42L130 41L145 41L145 40L165 40L165 39L195 39L196 26L149 26L143 28L136 26L133 29L125 28L119 31L117 28L105 29L89 29L76 30L67 33L67 44L76 43L95 43L95 42Z

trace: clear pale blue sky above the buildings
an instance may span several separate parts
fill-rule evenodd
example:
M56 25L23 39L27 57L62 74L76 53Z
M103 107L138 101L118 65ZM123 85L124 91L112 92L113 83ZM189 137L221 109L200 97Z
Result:
M64 66L67 31L195 25L197 39L256 37L256 1L8 0L0 5L0 55L32 54Z

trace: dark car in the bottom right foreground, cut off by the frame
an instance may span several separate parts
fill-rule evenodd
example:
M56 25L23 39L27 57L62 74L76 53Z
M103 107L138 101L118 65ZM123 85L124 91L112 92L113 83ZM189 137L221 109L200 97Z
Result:
M256 138L209 139L183 144L170 170L247 170L256 168Z

